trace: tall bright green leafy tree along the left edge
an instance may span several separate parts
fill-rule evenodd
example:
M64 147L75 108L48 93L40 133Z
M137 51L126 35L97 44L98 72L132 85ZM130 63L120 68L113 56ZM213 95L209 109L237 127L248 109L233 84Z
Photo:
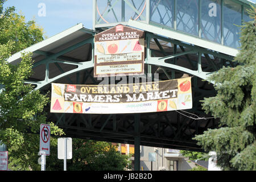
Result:
M33 90L24 80L32 75L31 53L23 53L20 63L7 59L13 53L43 40L42 29L34 21L24 22L24 16L14 7L3 9L0 0L0 139L9 151L9 168L30 170L38 163L40 123L47 123L43 108L49 98ZM51 123L51 134L63 134Z

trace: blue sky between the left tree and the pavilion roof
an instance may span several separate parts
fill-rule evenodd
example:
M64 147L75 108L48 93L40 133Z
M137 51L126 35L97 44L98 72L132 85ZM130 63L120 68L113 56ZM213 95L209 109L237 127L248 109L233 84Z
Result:
M256 0L250 0L256 2ZM26 21L35 19L48 37L58 34L77 23L92 29L93 0L7 0L6 6L15 6ZM46 16L39 16L40 3L46 5Z

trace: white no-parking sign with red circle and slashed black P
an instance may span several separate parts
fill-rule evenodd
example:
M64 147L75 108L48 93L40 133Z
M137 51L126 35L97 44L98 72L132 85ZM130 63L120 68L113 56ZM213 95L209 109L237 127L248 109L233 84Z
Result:
M50 154L50 126L46 124L40 125L40 154Z

